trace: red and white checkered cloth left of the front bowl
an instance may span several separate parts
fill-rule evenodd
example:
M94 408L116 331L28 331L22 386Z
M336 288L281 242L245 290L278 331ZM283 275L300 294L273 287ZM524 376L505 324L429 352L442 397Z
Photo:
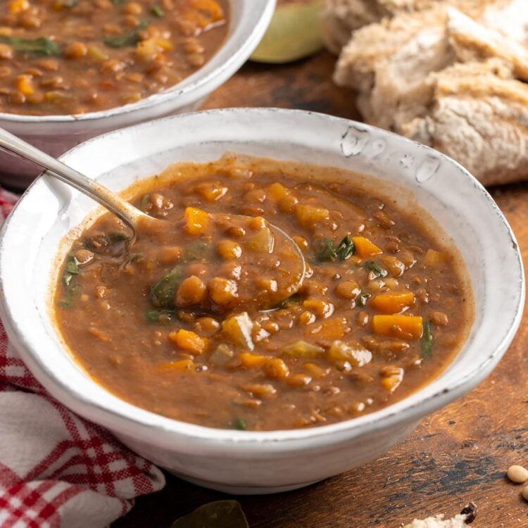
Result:
M16 196L0 189L0 222ZM0 527L103 528L160 470L46 394L0 322Z

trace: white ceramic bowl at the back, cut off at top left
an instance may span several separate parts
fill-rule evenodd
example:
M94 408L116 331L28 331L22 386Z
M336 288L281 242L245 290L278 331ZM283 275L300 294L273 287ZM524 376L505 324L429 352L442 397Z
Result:
M270 23L275 0L230 0L230 26L213 58L182 82L137 103L80 115L15 115L0 113L0 127L39 149L59 156L90 137L194 110L249 58ZM0 182L25 189L39 174L31 163L0 152Z

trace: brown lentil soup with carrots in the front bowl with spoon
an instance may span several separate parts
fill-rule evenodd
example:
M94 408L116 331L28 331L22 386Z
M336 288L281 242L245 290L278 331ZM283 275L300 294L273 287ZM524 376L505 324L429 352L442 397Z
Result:
M467 337L458 251L378 180L225 156L139 186L132 203L170 227L140 229L129 251L120 220L102 215L77 234L54 294L65 344L125 401L208 427L325 425L408 396ZM213 226L208 213L254 218ZM238 289L277 291L277 270L294 265L272 251L267 222L303 251L306 274L282 306L258 311ZM268 260L251 275L256 258Z

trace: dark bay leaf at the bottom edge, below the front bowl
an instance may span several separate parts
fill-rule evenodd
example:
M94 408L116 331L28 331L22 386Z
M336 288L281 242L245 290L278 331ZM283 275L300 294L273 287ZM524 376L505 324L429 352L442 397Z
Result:
M249 528L237 501L215 501L181 517L171 528Z

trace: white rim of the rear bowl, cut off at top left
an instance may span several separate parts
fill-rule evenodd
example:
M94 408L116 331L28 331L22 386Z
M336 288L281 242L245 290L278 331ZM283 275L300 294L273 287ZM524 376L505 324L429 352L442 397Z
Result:
M218 51L209 59L208 63L203 65L202 68L192 73L188 77L185 77L182 81L177 84L168 87L159 92L158 94L151 94L144 99L140 99L135 103L129 103L121 106L115 106L106 110L97 112L87 112L82 114L65 114L65 115L25 115L15 113L2 113L0 112L0 122L6 123L17 123L18 125L31 125L35 123L68 123L68 122L82 122L82 121L94 121L101 118L111 118L115 115L126 115L135 111L145 110L170 101L175 97L181 97L189 92L201 89L204 85L208 84L215 77L219 77L225 71L230 70L233 63L237 63L241 56L251 54L247 53L247 50L253 46L253 41L260 37L260 32L264 33L268 27L273 11L275 9L276 0L241 0L245 9L243 16L241 16L237 25L232 28L231 34L228 34L225 42ZM233 8L232 1L230 2L230 8ZM237 34L237 30L241 28L241 33ZM258 43L254 43L255 46ZM215 67L210 67L210 63L216 63Z

